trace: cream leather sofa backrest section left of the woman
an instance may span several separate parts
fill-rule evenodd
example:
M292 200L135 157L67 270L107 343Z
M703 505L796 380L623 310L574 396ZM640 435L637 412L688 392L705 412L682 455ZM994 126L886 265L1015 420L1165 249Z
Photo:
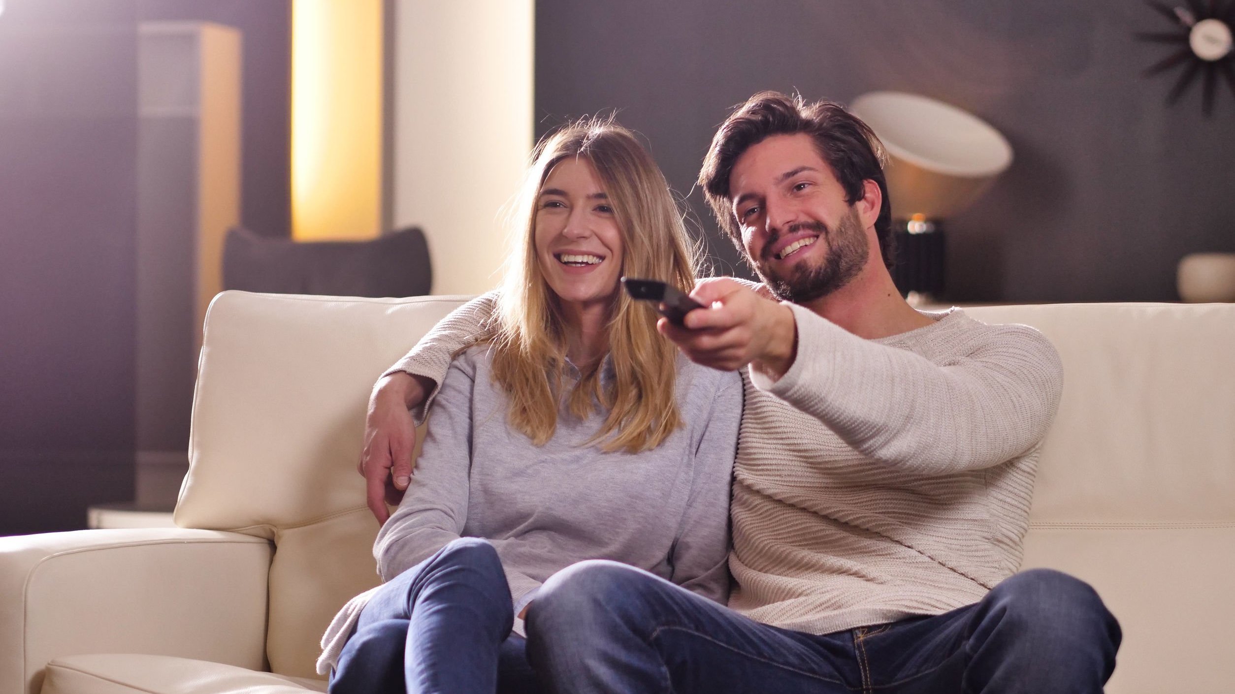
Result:
M330 619L377 585L356 472L369 390L461 303L225 291L210 305L175 522L274 542L273 672L316 677Z

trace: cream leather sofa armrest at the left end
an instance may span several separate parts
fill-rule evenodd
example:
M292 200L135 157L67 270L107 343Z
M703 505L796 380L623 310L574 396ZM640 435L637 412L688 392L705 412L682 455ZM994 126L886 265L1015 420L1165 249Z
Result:
M209 530L0 537L0 692L38 694L48 661L75 653L264 669L272 554Z

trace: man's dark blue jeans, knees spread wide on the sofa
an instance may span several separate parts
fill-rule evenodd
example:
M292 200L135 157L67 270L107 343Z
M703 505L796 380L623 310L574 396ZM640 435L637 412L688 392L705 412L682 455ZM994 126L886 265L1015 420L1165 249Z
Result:
M590 694L1099 693L1120 630L1066 574L1013 575L981 603L824 636L756 622L650 573L582 562L527 611L552 692Z

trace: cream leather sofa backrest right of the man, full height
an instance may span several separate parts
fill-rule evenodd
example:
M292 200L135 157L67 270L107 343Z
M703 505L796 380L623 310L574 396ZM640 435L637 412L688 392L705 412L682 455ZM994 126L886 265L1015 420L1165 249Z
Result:
M1089 582L1120 620L1124 643L1107 692L1230 692L1235 305L966 312L1031 325L1063 359L1024 568Z

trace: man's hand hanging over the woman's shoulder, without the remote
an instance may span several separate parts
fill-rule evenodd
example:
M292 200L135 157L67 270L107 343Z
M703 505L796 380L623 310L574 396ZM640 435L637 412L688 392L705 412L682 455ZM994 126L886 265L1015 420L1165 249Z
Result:
M358 469L367 483L369 510L379 524L390 517L387 504L399 505L411 480L416 426L408 410L424 403L431 388L427 378L395 372L378 379L369 395Z

